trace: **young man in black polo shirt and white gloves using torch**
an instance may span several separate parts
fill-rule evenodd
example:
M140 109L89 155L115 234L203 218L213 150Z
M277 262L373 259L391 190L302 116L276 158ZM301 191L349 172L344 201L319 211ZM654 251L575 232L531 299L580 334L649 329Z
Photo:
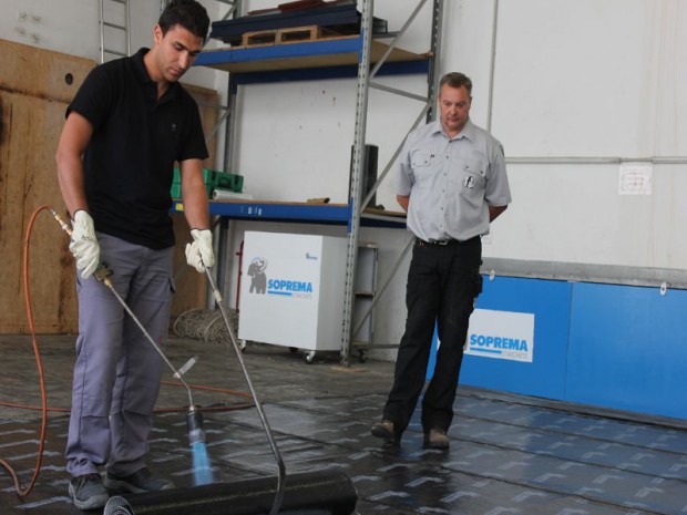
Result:
M107 262L117 292L164 346L173 296L168 210L175 162L192 228L188 264L198 271L214 265L202 174L207 148L198 107L177 83L201 52L208 25L195 0L173 0L154 28L153 48L95 68L66 111L57 162L79 269L66 468L80 509L104 506L107 490L174 486L154 477L144 461L163 360L92 276Z

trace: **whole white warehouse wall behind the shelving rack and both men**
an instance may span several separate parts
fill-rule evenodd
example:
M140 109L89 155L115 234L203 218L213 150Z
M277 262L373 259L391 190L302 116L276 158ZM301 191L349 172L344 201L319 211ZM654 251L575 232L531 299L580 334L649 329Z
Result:
M96 3L4 0L0 38L98 59ZM218 2L205 3L212 9ZM245 3L249 10L278 2ZM376 14L399 29L416 3L376 0ZM684 270L687 243L679 237L678 222L687 218L687 207L677 202L687 192L683 2L444 3L441 70L463 71L473 79L472 119L491 128L509 158L514 204L484 239L485 257ZM144 44L158 2L133 4L134 40ZM402 48L428 49L429 7ZM189 80L208 73L194 70ZM223 91L218 75L212 81ZM416 93L427 90L420 76L383 82ZM246 193L266 200L328 196L345 202L355 94L355 81L349 80L242 87L233 168L245 176ZM380 146L381 169L420 105L379 91L370 92L369 103L368 143ZM645 166L645 174L652 165L650 194L618 193L621 164L634 162ZM398 209L392 178L377 202ZM234 253L246 228L342 234L332 227L233 224L229 287L235 286ZM365 229L361 238L380 245L383 278L408 236L402 229ZM398 342L402 332L406 270L407 261L377 310L376 334L382 343Z

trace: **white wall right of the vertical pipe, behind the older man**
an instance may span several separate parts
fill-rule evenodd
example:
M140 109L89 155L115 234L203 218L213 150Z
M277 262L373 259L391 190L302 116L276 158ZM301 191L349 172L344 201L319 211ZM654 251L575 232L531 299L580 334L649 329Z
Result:
M515 202L494 224L489 254L685 268L687 241L676 230L687 219L685 7L500 2L492 131L507 157L543 163L510 166ZM444 56L449 68L461 62L460 52ZM619 164L586 159L670 156L680 164L655 164L645 196L618 195Z

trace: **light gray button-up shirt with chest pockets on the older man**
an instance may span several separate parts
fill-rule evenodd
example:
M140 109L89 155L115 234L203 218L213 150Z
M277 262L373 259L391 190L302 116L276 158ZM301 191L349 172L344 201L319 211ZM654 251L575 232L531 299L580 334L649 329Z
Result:
M397 166L408 229L427 241L485 235L489 206L511 203L503 147L470 120L453 138L439 121L412 131Z

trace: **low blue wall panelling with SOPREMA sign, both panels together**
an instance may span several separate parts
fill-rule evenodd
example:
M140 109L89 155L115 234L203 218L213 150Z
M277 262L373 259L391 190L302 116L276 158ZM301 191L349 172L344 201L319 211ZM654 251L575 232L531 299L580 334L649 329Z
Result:
M484 277L460 382L687 420L685 313L687 290Z

